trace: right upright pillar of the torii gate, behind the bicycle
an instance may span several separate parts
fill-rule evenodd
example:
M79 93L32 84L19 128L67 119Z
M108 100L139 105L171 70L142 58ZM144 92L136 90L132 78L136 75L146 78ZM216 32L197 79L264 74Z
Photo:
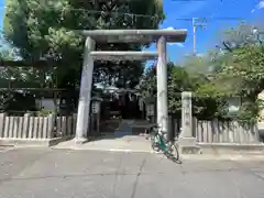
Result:
M168 131L168 108L167 108L167 52L164 36L157 41L157 123L162 131Z

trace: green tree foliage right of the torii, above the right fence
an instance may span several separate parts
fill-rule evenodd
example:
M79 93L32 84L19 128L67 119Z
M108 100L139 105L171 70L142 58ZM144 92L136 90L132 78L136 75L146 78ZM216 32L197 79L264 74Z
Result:
M180 66L168 65L169 113L180 117L180 92L191 91L193 113L199 119L255 120L263 108L257 95L264 89L264 46L257 38L251 25L240 24L226 32L220 51L190 56ZM148 84L141 90L155 91L153 75L146 73L145 78ZM229 109L233 99L241 102L238 112Z

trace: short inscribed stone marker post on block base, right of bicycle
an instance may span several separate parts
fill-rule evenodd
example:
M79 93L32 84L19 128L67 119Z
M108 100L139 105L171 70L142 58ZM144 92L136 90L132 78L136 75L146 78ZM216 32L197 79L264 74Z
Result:
M191 92L182 92L182 132L179 134L179 151L182 153L197 153L197 141L193 131L193 112L191 112Z

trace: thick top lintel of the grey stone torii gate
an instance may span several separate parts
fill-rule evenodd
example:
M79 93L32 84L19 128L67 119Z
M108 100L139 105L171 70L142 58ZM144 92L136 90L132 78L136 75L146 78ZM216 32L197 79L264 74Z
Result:
M164 36L167 43L183 43L187 30L82 30L81 35L99 43L150 43Z

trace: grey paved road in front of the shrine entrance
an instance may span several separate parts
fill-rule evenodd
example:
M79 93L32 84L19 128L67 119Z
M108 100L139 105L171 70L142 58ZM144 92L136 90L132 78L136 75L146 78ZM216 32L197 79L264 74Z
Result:
M0 198L263 198L261 162L186 161L150 153L0 152Z

